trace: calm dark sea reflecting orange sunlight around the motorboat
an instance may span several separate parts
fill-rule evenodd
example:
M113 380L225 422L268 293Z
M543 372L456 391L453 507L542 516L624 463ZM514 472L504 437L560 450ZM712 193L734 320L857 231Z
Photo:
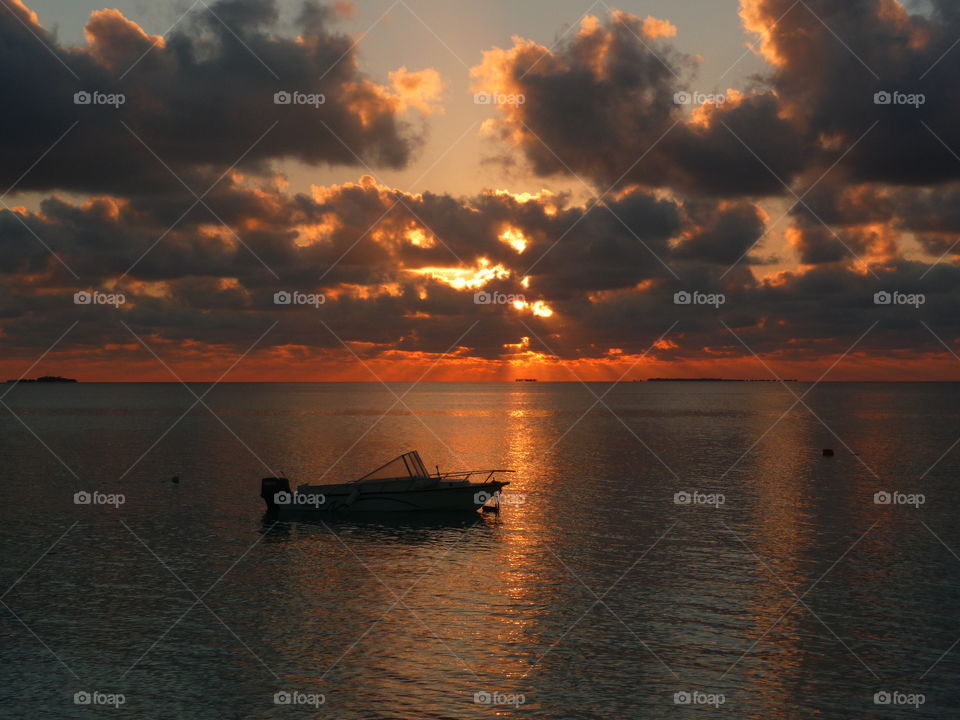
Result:
M17 386L0 716L960 716L960 385L788 388ZM502 513L263 516L411 449Z

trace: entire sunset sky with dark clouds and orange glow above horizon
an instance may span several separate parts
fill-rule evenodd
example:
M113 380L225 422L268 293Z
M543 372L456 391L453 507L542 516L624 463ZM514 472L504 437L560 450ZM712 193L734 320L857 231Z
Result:
M960 379L946 0L0 4L7 377Z

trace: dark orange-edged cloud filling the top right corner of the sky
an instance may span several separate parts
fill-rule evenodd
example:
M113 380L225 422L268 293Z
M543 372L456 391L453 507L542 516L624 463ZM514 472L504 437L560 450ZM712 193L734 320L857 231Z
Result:
M960 161L945 147L960 147L956 3L933 0L923 15L891 0L743 0L742 7L773 65L769 83L804 128L811 161L839 159L863 136L839 168L850 182L960 177Z

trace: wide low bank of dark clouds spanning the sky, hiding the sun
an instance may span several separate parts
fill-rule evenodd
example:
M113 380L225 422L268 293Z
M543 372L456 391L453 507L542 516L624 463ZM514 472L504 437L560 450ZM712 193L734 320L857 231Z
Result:
M313 196L265 197L231 183L221 195L220 209L236 222L244 244L209 217L191 216L149 250L163 228L144 202L134 208L106 199L81 206L48 200L41 213L22 214L82 271L81 282L29 233L17 231L22 225L15 218L0 214L16 238L4 254L8 292L0 314L7 345L49 342L38 328L49 332L74 320L81 325L72 343L121 344L129 335L119 319L138 334L231 352L279 321L265 348L337 351L339 336L359 343L357 352L368 357L442 353L477 321L462 343L468 357L503 358L524 337L530 338L524 347L544 352L539 337L564 358L605 358L611 348L637 354L674 321L673 344L653 357L702 359L705 349L711 357L742 357L743 347L721 321L749 336L757 352L789 348L790 357L807 359L842 352L876 320L880 331L864 343L873 351L926 348L929 338L913 332L922 329L919 317L945 337L960 334L952 311L960 275L952 266L921 281L927 266L891 256L875 266L873 277L840 254L816 256L822 250L811 241L811 249L800 250L810 255L812 269L757 280L742 267L724 276L733 250L742 252L763 228L759 209L743 201L680 203L634 189L610 201L611 213L549 195L404 194L370 178L318 188ZM145 218L152 219L145 224ZM523 252L500 239L505 228L527 240ZM884 240L860 226L842 232L863 253L877 252ZM819 241L836 246L826 236ZM484 268L502 272L476 286L457 286L458 277L470 280ZM75 291L98 287L123 292L127 303L119 311L74 305ZM481 289L522 295L527 306L477 305L474 293ZM326 302L278 306L280 290L323 293ZM681 290L722 293L725 302L677 305ZM922 315L916 308L877 306L880 290L924 292L928 301ZM553 314L531 312L536 302Z

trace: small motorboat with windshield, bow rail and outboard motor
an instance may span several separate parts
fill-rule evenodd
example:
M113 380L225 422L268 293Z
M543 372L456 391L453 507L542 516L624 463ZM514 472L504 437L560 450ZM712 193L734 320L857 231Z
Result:
M309 520L331 514L394 512L476 512L498 507L509 482L498 473L513 470L427 471L416 450L398 455L363 477L346 483L300 485L296 492L284 477L263 478L260 497L267 514L281 521Z

